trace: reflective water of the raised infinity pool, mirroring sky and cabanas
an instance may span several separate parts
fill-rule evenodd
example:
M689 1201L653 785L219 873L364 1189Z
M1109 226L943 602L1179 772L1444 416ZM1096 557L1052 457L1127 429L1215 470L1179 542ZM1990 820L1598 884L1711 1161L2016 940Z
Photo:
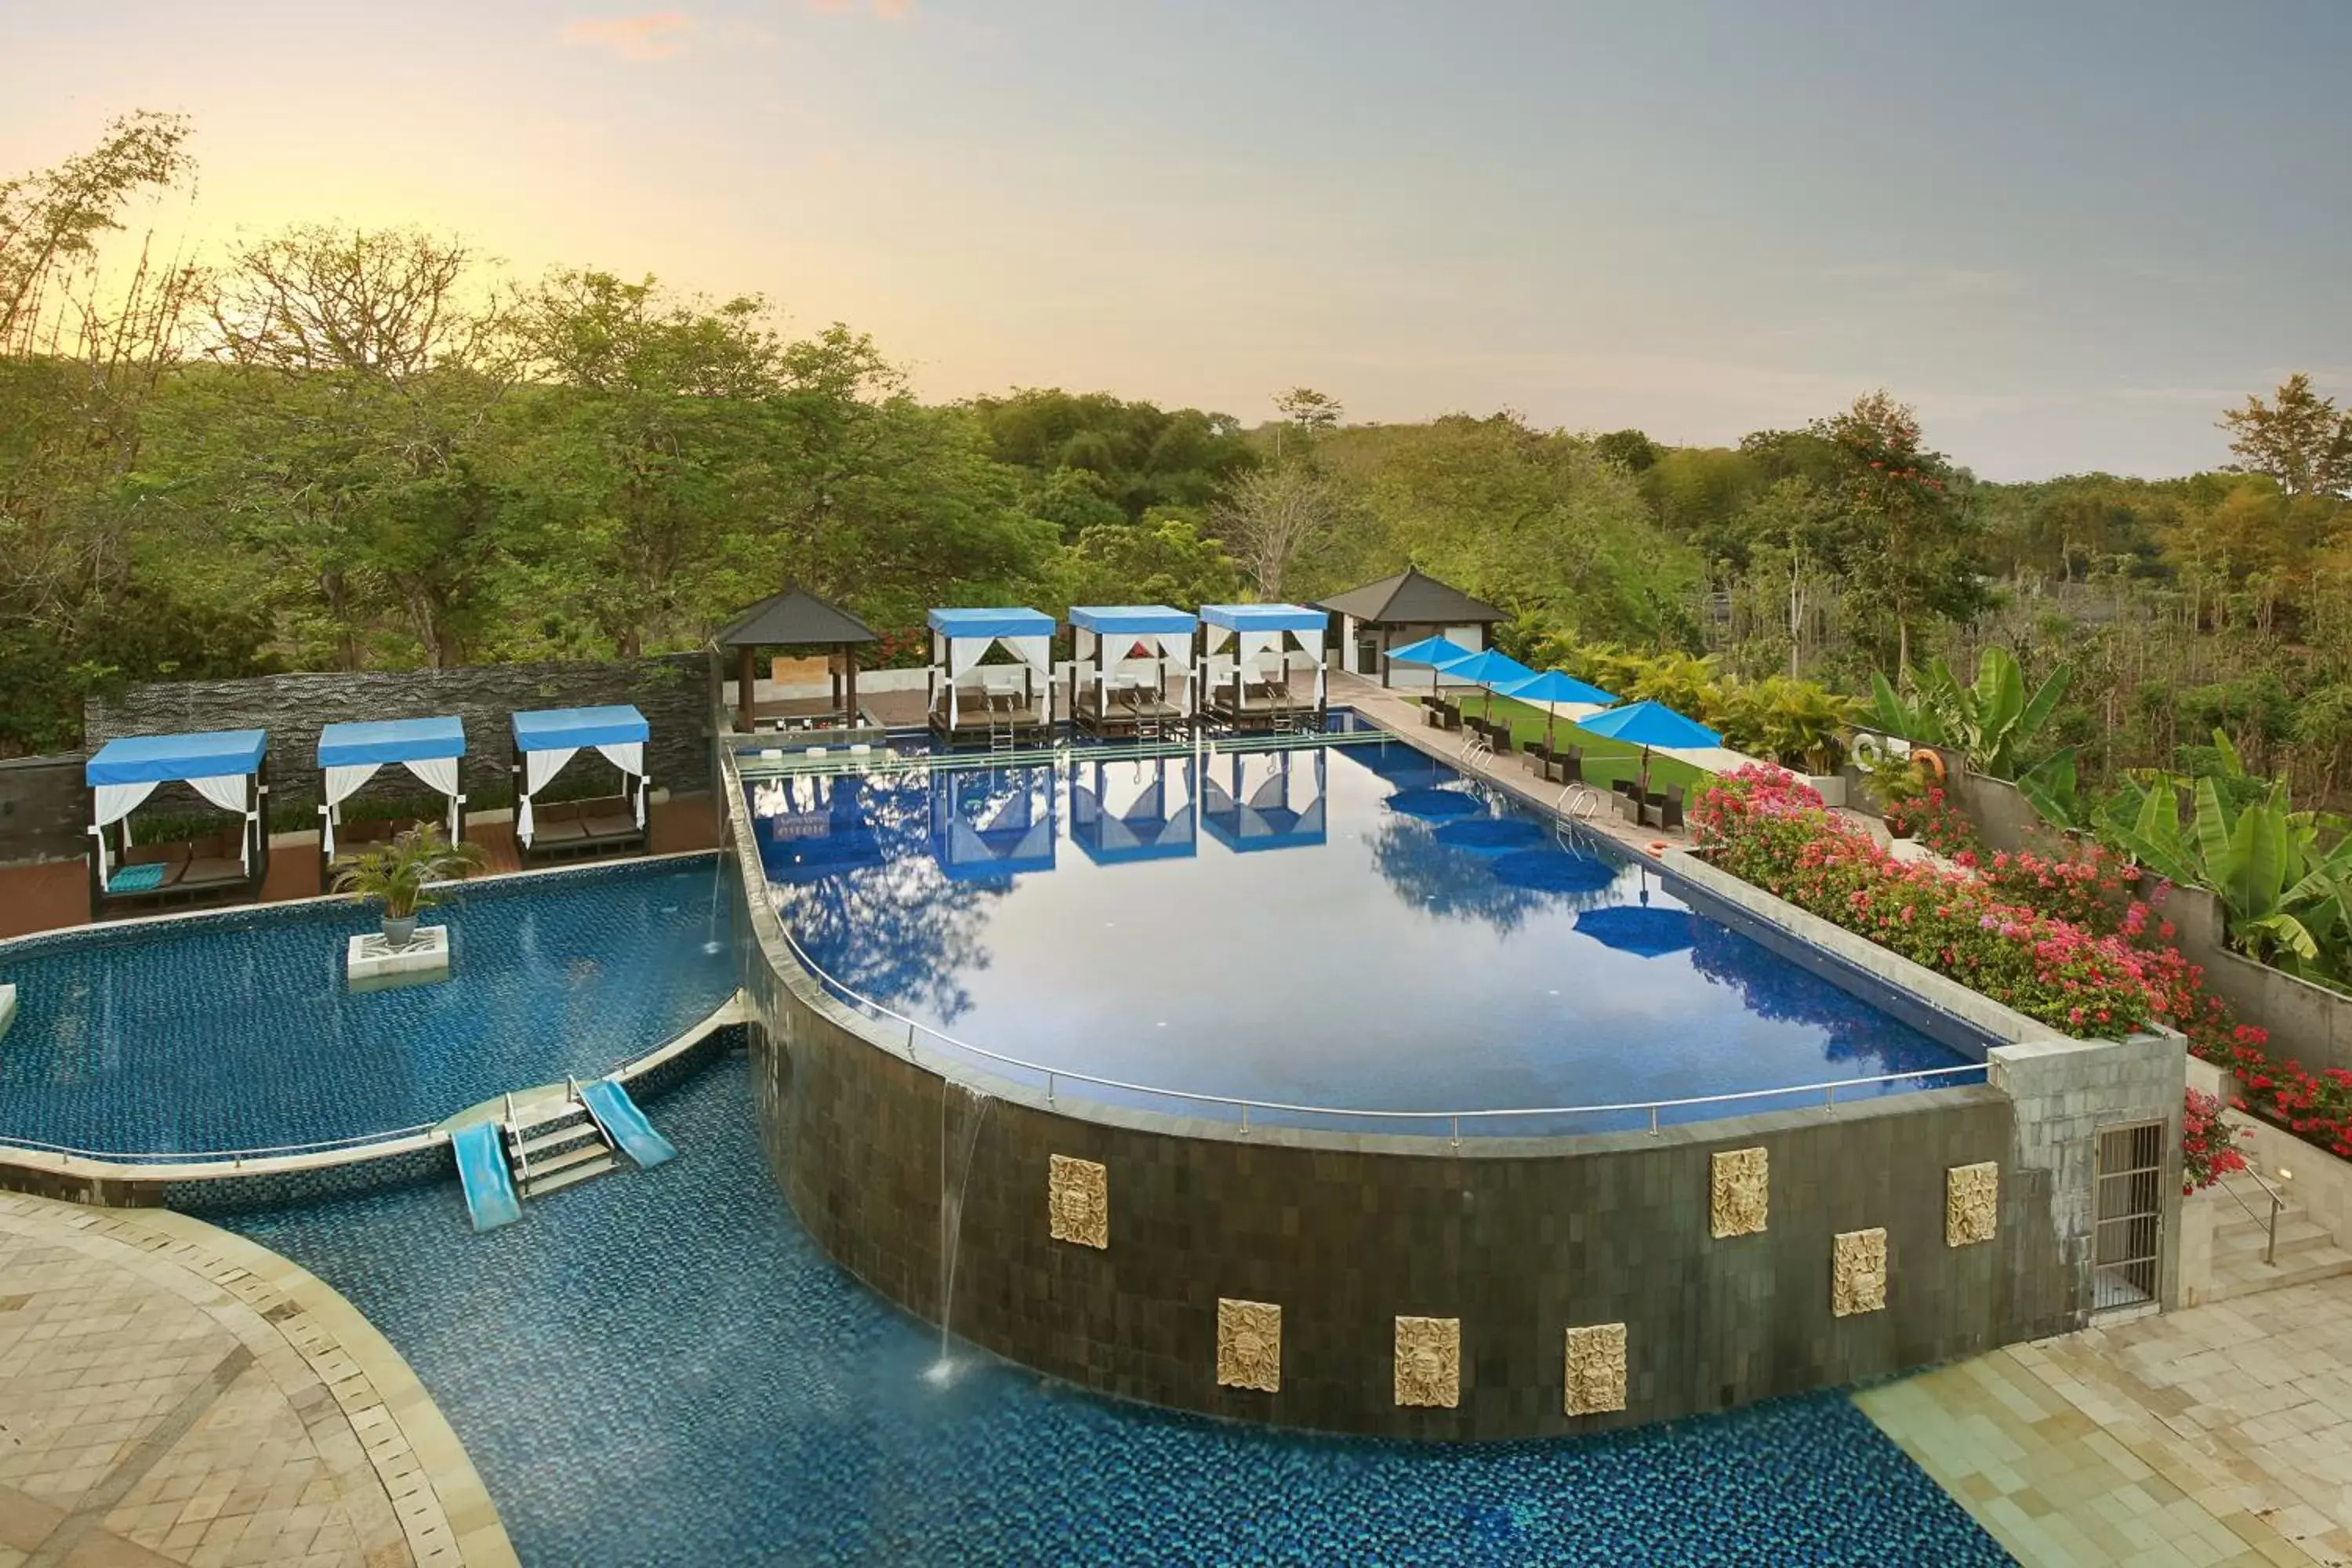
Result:
M1503 792L1397 741L1157 759L1080 750L746 792L771 898L828 976L946 1037L1061 1072L1397 1112L1646 1105L1969 1060L1689 912L1646 863L1597 839L1564 844ZM1498 1117L1463 1131L1644 1119Z

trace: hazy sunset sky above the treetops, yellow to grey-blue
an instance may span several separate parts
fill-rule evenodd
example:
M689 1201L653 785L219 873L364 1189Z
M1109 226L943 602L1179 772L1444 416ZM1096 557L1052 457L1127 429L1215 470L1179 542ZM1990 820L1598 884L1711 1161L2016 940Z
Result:
M209 247L456 230L847 320L929 397L1729 442L1886 386L1987 477L2352 395L2352 5L0 0L0 174L198 122Z

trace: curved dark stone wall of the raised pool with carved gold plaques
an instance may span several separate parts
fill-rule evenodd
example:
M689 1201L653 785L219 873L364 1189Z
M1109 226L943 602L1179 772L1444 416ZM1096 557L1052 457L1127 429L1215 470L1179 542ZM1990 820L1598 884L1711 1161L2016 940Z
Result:
M2093 1300L2084 1128L2166 1114L2159 1051L2105 1044L1997 1046L1994 1084L1832 1112L1461 1147L1047 1103L828 997L722 795L762 1133L802 1225L957 1338L1148 1403L1545 1436L2063 1333ZM2178 1074L2173 1051L2173 1128Z

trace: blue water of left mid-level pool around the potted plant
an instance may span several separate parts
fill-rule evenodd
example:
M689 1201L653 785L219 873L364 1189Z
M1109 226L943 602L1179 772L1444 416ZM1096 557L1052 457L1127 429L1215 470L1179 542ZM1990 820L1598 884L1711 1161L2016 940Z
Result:
M440 1121L595 1077L734 992L715 856L480 882L445 983L353 992L350 903L0 945L0 1138L115 1154L263 1150ZM706 952L706 947L717 947Z

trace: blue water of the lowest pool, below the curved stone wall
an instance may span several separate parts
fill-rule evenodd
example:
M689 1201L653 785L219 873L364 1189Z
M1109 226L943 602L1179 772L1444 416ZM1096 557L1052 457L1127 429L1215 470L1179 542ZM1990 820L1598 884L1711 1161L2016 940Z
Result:
M223 1215L409 1359L532 1568L1922 1563L2006 1554L1839 1394L1548 1443L1317 1439L960 1347L776 1194L750 1074L649 1105L682 1159L466 1229L456 1182Z

